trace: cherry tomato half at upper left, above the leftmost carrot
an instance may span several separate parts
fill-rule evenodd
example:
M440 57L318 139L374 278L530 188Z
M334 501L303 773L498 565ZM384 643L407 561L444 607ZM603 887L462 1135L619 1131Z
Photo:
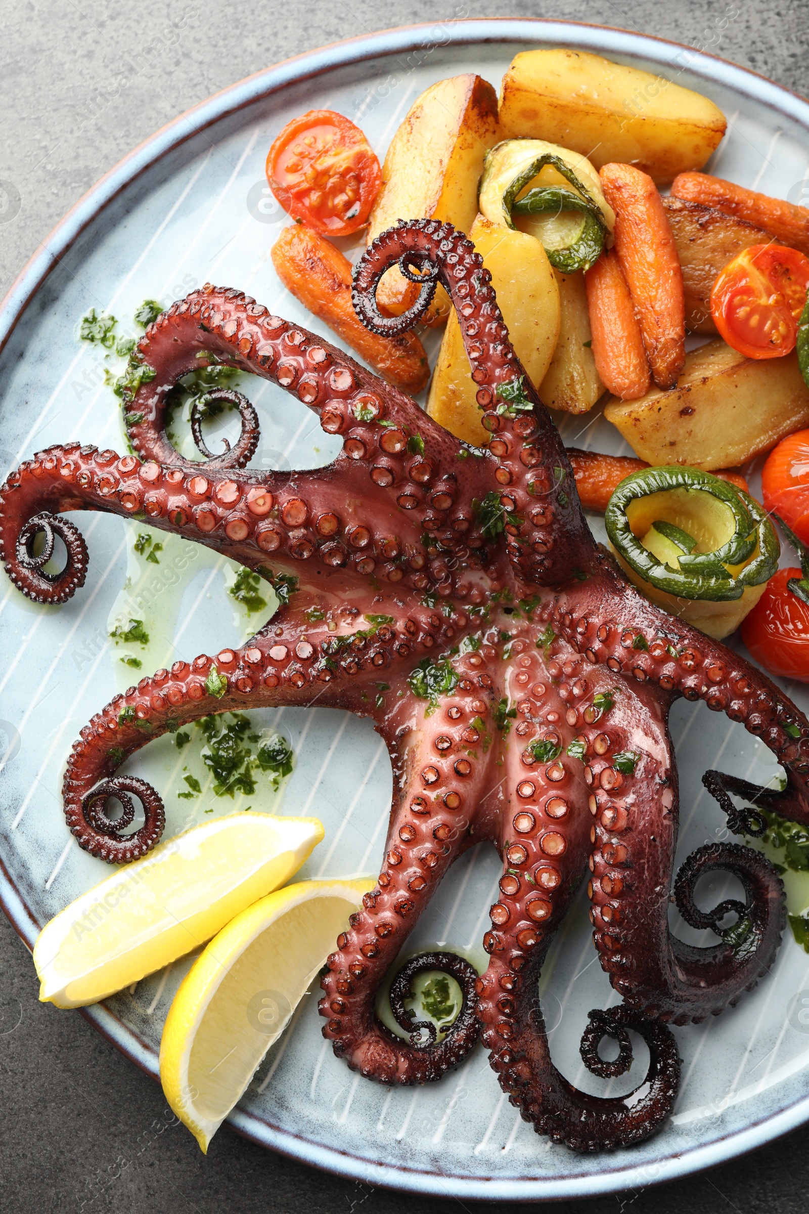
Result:
M323 236L351 236L368 222L382 170L359 126L334 109L311 109L270 147L267 181L294 219Z

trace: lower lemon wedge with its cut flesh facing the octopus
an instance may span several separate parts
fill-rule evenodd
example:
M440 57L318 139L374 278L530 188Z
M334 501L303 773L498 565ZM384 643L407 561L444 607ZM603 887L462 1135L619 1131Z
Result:
M160 1080L203 1151L374 884L277 890L237 915L183 980L163 1031Z

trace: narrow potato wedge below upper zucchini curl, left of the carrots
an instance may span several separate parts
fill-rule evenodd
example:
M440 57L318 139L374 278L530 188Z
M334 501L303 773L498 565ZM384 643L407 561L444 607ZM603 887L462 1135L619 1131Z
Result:
M522 223L519 225L522 227ZM604 393L589 348L585 276L553 271L559 288L559 339L537 391L543 404L563 413L587 413Z

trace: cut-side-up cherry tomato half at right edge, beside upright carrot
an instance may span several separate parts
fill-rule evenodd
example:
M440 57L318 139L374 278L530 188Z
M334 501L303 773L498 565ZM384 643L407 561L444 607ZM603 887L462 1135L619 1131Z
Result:
M781 358L794 350L808 288L809 257L784 244L753 244L717 277L711 316L740 354Z

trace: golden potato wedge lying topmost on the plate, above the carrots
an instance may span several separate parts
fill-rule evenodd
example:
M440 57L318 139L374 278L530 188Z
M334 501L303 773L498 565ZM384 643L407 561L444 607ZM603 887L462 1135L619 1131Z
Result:
M633 164L657 185L701 168L725 126L707 97L585 51L522 51L500 92L501 138L560 143L597 169Z

